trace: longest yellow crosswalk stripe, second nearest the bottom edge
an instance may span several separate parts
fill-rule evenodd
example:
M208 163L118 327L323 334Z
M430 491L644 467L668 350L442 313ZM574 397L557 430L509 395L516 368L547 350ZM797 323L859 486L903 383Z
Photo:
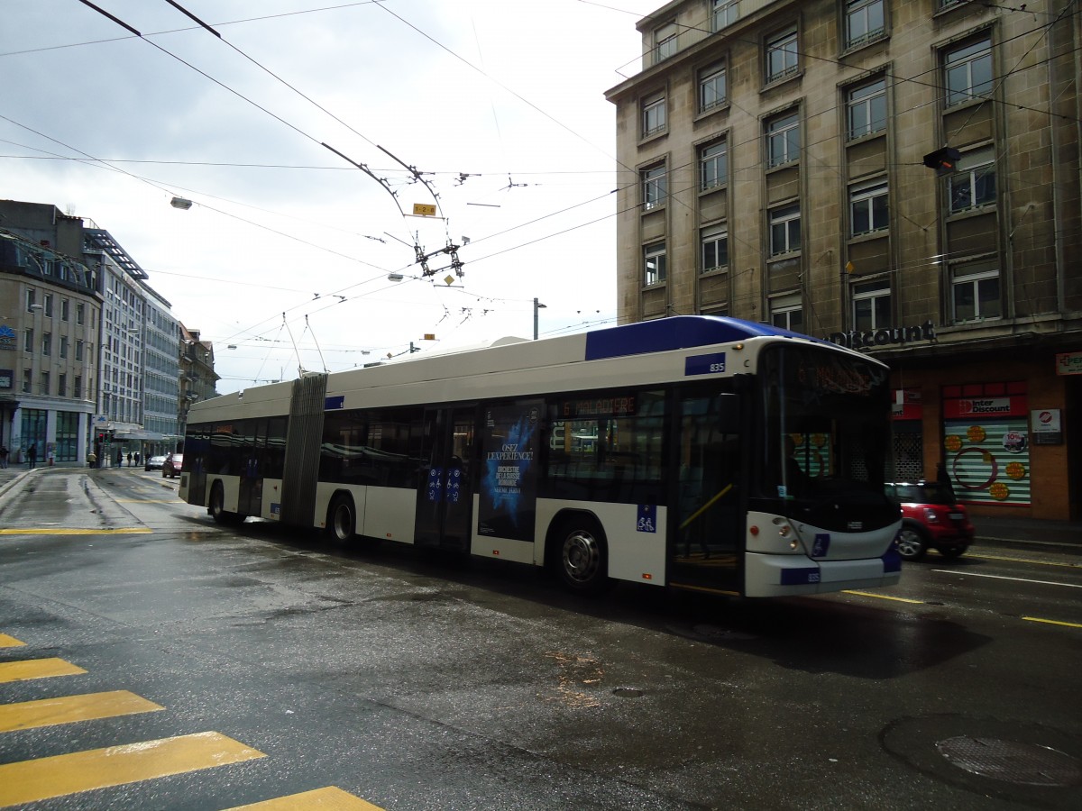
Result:
M37 802L266 757L221 732L162 737L0 766L0 806Z

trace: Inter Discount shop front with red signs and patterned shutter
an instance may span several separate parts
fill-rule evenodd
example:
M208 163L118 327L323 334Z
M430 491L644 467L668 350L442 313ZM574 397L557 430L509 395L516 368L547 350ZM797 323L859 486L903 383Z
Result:
M887 359L896 477L946 476L976 516L1079 518L1082 447L1073 421L1082 360L1072 367L1056 356L933 346Z

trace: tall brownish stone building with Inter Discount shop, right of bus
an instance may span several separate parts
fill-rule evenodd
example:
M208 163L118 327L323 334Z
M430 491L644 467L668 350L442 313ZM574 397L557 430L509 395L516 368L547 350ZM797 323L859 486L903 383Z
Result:
M677 0L617 109L621 322L720 314L894 370L899 479L1082 504L1068 0ZM1073 513L1078 515L1077 511Z

